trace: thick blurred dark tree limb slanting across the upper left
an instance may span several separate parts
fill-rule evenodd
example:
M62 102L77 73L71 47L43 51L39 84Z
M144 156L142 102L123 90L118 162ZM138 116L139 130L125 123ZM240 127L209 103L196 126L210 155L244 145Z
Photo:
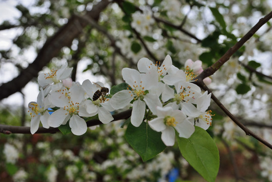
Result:
M110 4L110 1L101 1L95 5L91 11L87 12L86 15L97 21L99 14L108 4ZM38 72L49 63L53 57L58 56L63 47L71 45L73 39L81 33L81 28L87 25L86 22L80 22L81 26L75 28L76 21L79 21L78 18L72 16L66 25L54 36L46 40L33 63L22 70L16 78L0 86L0 100L19 92L33 77L38 75Z

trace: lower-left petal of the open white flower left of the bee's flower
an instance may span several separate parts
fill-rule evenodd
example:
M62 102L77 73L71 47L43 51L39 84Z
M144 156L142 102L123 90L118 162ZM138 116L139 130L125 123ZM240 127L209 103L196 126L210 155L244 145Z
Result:
M67 116L69 116L69 112L62 108L58 109L49 116L48 125L51 127L59 127L64 123Z

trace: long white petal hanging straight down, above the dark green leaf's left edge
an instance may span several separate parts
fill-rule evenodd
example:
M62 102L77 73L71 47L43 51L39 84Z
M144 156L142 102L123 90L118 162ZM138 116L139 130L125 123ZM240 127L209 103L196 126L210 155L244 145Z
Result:
M139 99L134 101L131 113L131 124L136 127L140 126L144 118L144 113L145 102Z

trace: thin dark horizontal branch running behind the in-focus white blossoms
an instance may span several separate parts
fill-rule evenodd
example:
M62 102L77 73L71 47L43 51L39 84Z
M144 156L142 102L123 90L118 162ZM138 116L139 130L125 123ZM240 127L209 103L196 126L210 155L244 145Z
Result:
M118 121L121 119L128 119L131 115L132 109L128 109L126 111L117 113L113 115L114 121ZM101 121L98 119L91 119L87 121L87 127L90 126L96 126L103 124ZM44 127L39 127L39 129L36 131L36 133L56 133L59 132L60 130L58 128L53 128L49 127L48 129ZM23 134L30 134L30 127L28 126L10 126L10 125L5 125L5 124L0 124L0 133L4 134L11 134L11 133L23 133Z

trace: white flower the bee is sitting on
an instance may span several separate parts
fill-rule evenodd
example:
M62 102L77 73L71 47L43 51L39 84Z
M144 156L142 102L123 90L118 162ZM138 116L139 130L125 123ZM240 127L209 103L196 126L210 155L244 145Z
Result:
M103 86L103 84L100 82L99 85ZM96 101L92 101L93 95L100 88L98 88L95 84L92 84L90 80L84 80L82 87L85 90L87 96L91 99L84 102L86 112L91 116L98 114L99 120L104 124L114 120L112 114L110 113L114 111L114 108L110 104L110 99L102 98L102 96L100 96Z

